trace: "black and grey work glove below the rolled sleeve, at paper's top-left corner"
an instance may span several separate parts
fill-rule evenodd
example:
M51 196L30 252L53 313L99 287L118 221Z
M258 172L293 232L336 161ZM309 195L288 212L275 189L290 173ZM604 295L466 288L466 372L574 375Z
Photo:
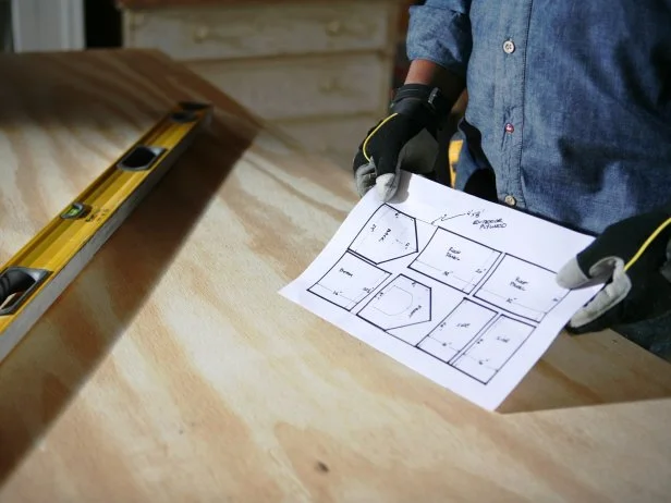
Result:
M450 110L438 88L406 84L398 89L389 111L368 131L353 163L359 196L375 185L385 201L395 195L401 169L423 174L434 170L437 130Z

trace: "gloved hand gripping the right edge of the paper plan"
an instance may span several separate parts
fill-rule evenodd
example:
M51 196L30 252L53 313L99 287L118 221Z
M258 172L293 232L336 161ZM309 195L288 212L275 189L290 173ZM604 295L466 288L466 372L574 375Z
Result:
M565 289L606 283L569 322L575 334L671 311L671 205L610 225L557 281Z

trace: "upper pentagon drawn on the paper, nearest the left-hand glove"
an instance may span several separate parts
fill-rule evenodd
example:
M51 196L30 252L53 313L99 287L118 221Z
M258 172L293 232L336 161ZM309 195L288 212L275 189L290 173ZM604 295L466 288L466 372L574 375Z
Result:
M417 253L417 223L389 205L380 206L354 238L350 250L374 263Z

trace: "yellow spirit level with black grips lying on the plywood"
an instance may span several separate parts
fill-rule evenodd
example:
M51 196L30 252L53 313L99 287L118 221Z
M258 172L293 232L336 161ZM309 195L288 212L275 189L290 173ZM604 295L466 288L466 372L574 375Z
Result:
M175 106L0 270L0 361L129 217L197 131L211 107Z

